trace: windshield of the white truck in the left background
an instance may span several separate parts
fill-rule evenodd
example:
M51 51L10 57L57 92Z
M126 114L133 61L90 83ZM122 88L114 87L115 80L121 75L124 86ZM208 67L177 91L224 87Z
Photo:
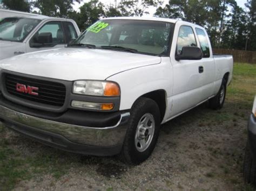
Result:
M0 40L22 42L41 20L10 17L0 21Z

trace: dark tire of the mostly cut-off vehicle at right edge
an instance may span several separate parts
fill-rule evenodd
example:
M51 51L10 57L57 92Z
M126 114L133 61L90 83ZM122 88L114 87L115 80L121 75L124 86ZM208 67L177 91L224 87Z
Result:
M256 162L253 160L248 142L245 148L244 179L247 183L256 185Z

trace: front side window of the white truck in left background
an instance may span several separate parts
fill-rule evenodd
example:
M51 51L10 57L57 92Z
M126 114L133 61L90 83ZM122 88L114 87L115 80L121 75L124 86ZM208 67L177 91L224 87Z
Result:
M60 22L46 23L30 41L30 47L53 47L58 44L65 44Z

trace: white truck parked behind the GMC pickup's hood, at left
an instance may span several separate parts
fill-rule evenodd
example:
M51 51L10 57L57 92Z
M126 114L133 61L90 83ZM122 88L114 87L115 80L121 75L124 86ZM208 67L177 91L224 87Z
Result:
M74 20L0 9L0 60L62 48L80 34Z

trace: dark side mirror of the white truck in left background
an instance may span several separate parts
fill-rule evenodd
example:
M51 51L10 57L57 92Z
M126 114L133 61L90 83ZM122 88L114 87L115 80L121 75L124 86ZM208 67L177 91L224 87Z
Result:
M39 48L39 47L50 47L52 45L52 34L51 32L43 32L38 34L38 36L34 36L31 47Z

